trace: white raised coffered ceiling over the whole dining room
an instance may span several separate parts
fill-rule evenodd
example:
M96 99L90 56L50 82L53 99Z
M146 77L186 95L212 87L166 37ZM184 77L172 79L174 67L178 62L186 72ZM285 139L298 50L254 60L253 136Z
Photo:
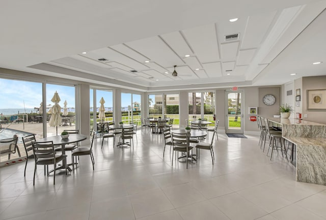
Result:
M140 5L113 3L107 13L114 12L111 9L116 6L115 17L106 15L96 3L89 5L87 11L80 11L85 12L85 16L81 17L77 15L78 11L71 8L72 5L59 2L65 6L68 4L67 11L62 13L70 19L78 17L80 24L73 26L76 24L75 20L63 21L61 17L52 17L53 13L50 11L45 20L51 23L48 23L44 31L50 31L53 37L48 36L48 42L40 40L40 45L36 40L38 37L33 40L29 36L27 38L30 41L24 45L15 42L19 39L17 36L6 45L1 42L0 46L4 50L0 51L0 58L3 58L0 60L0 67L44 75L54 72L61 77L82 81L89 81L92 76L95 80L96 76L101 77L101 80L98 80L100 84L123 85L122 87L141 90L176 89L178 86L193 88L192 85L204 88L282 84L293 79L289 74L291 70L297 71L297 68L293 67L297 65L296 62L304 65L307 61L306 66L309 65L310 68L311 62L307 60L308 55L300 56L306 60L296 60L291 64L292 67L289 67L286 62L278 60L278 56L287 53L297 57L303 51L300 46L293 47L291 44L299 41L301 35L310 36L314 31L310 30L312 26L322 28L326 21L325 12L317 17L325 9L326 1L275 1L275 4L252 1L253 4L247 3L248 6L242 5L242 1L232 4L187 1L182 4L173 2L176 7L171 9L166 5L168 3L156 5L150 1L141 1ZM100 2L106 5L103 1ZM148 5L144 5L145 3ZM8 3L8 6L14 8L11 3ZM40 4L37 6L41 7ZM241 6L241 10L238 10ZM130 7L133 7L133 10ZM216 7L215 13L211 7ZM179 11L175 11L176 8ZM71 15L68 14L68 9L71 10ZM118 11L122 9L125 9L125 13L119 14ZM157 18L156 16L162 16L161 10L164 9L169 10L163 17ZM46 8L44 15L47 10L49 9ZM175 13L179 13L179 16L174 16ZM94 23L97 29L91 27L90 22L94 22L96 16L98 23L102 24ZM114 20L104 22L103 17ZM230 22L229 19L234 17L238 20ZM31 19L35 25L40 24L40 21L35 19ZM17 25L16 22L11 23ZM69 24L72 25L71 29ZM33 26L35 34L41 33L42 27L37 29ZM26 33L23 30L16 30L13 34L24 36L29 33L29 30L25 29ZM55 30L61 35L54 34ZM225 36L232 34L239 34L238 39L226 41ZM326 38L323 30L319 34ZM78 37L73 40L71 36ZM5 37L9 39L8 34ZM308 45L308 48L309 45L314 47L317 44L319 48L326 49L321 38L320 42L309 37L301 41L304 41L302 43ZM59 42L62 45L59 46ZM41 48L42 46L44 48ZM30 48L33 48L31 52L28 51ZM7 51L8 57L3 51ZM12 59L13 53L17 51L22 51L22 56L28 56L15 64ZM84 51L87 53L83 54ZM307 50L305 53L315 53L317 61L326 61L323 52L316 54L315 51ZM44 57L41 57L41 54ZM284 57L285 59L287 57ZM277 60L277 65L274 60ZM175 65L178 76L172 76ZM274 68L278 71L274 71ZM280 68L288 72L281 74ZM308 68L308 71L311 70ZM88 74L87 78L78 77L78 72L84 73L83 76ZM268 76L265 72L268 72ZM305 73L297 75L301 76L305 76Z

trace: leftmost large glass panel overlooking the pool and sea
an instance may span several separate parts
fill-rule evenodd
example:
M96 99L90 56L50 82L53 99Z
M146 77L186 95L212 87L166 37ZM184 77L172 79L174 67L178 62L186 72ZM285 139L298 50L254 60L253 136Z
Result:
M25 156L21 137L43 138L42 83L0 79L0 139L18 136L15 152L2 153L0 163ZM0 143L0 151L8 145ZM8 148L7 148L8 149Z

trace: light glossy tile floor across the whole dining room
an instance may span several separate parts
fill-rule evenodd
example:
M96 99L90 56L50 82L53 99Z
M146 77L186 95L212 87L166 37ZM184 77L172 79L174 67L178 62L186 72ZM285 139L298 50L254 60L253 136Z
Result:
M25 178L24 163L0 168L0 219L326 219L326 186L296 182L294 167L281 154L270 161L255 136L219 134L214 165L201 150L188 169L171 167L169 148L163 158L161 135L139 131L133 150L97 141L95 171L80 157L56 185L39 166L33 186L33 161Z

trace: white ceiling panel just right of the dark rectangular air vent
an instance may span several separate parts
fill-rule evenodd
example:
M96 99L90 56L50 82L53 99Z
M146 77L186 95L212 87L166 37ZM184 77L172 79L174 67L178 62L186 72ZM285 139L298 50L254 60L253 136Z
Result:
M276 13L274 11L248 17L246 32L244 32L242 37L241 49L254 48L260 45Z

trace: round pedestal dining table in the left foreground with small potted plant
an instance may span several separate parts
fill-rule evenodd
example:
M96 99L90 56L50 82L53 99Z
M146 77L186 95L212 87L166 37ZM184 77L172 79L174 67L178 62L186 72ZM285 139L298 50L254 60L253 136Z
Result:
M71 143L75 143L75 142L79 142L79 141L84 141L86 139L87 139L87 137L85 135L69 134L69 137L65 138L65 139L62 139L61 135L56 135L56 136L41 138L41 139L38 139L37 141L38 142L52 141L53 145L61 145L62 154L65 155L66 154L66 150L65 150L65 145L66 144L71 144ZM63 162L63 165L58 167L57 170L66 169L66 168L70 172L72 171L72 169L69 166L67 166L67 161L65 159L64 162ZM52 172L52 170L50 172Z

